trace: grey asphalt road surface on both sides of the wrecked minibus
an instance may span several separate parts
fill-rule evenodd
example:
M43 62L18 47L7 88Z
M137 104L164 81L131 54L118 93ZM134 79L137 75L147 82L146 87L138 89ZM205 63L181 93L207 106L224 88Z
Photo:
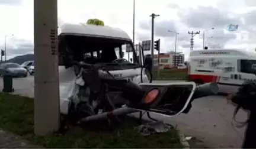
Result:
M167 81L156 82L166 83ZM15 94L33 98L33 76L15 78L13 85ZM2 79L0 79L0 89L2 89L2 86ZM193 107L188 114L181 114L175 117L155 114L152 114L152 116L153 118L177 125L185 135L196 138L189 141L192 149L240 149L244 128L235 128L231 124L234 108L233 105L226 102L223 96L208 96L194 101ZM247 113L240 111L237 119L245 121Z

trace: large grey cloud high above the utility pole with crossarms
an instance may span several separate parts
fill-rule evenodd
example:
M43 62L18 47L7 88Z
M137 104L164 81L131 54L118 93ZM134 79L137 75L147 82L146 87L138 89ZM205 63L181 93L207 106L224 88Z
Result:
M187 12L178 12L181 21L193 28L225 28L227 25L242 24L240 18L231 18L229 13L213 7L190 8Z

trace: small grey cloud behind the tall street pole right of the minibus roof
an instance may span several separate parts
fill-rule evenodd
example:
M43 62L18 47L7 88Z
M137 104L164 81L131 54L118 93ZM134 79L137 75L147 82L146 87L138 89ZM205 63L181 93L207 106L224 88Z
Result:
M176 31L177 27L173 20L155 21L155 35L161 37L174 37L174 34L168 32L168 30ZM151 21L140 22L139 27L143 30L148 30L151 33Z

